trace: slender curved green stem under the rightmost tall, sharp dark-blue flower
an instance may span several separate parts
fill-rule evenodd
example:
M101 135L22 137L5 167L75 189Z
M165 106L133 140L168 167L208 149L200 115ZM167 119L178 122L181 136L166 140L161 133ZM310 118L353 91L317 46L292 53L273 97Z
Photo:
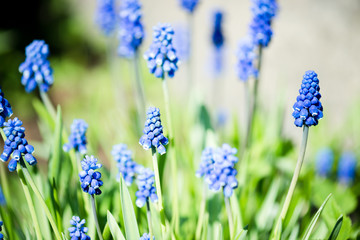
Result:
M299 178L300 171L301 171L301 166L302 166L302 164L304 162L308 135L309 135L309 127L304 126L298 160L297 160L297 163L296 163L294 175L293 175L293 177L291 179L289 191L288 191L288 193L286 195L284 205L283 205L283 207L281 209L281 213L280 213L279 219L278 219L277 224L276 224L275 235L278 234L277 231L278 231L278 227L280 226L280 222L284 221L284 219L286 217L286 213L287 213L287 211L289 209L289 206L290 206L290 203L291 203L291 198L292 198L292 196L294 194L294 191L295 191L296 183L297 183L297 180Z

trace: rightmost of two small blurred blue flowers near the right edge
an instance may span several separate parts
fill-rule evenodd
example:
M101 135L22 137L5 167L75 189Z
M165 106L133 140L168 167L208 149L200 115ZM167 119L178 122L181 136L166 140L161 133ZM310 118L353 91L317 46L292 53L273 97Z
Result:
M338 164L338 179L341 183L350 184L355 179L356 156L352 152L345 152L341 155Z

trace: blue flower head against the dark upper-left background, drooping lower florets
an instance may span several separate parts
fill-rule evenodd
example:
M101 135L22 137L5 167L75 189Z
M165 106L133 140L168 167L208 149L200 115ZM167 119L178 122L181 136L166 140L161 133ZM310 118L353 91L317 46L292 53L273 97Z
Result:
M26 92L32 92L36 86L40 91L47 92L54 83L53 70L47 60L49 46L44 40L34 40L25 48L25 62L19 66L22 73L21 84L25 86Z

